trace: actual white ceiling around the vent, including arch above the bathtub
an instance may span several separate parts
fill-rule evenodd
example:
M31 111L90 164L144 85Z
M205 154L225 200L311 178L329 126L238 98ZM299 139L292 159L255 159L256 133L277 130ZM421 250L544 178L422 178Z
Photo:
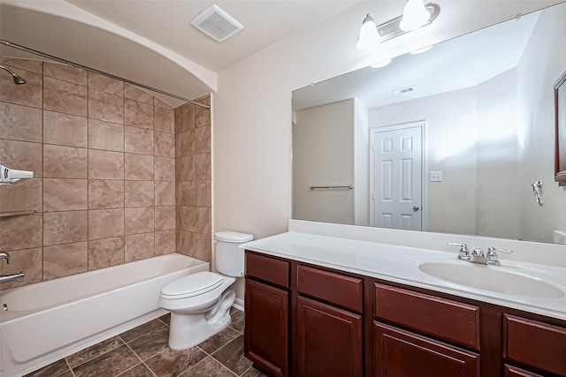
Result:
M0 0L2 40L195 99L217 73L359 0ZM244 29L218 42L190 21L210 4ZM0 46L2 57L41 59ZM174 79L172 79L174 78ZM156 94L172 106L182 101Z

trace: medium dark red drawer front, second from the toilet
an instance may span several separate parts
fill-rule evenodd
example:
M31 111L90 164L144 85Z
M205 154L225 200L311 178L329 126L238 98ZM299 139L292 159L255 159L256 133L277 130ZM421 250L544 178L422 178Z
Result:
M362 313L362 279L306 266L299 266L297 272L299 293Z

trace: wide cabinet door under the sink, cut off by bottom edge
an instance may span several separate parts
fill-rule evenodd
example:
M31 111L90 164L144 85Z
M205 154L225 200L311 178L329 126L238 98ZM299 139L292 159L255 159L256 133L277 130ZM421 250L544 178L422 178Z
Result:
M479 377L479 355L374 323L376 377Z

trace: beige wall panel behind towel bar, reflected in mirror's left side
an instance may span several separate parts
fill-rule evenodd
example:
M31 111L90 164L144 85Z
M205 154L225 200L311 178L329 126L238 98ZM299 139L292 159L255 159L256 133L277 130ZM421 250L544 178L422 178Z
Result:
M354 183L354 100L296 111L293 125L293 218L354 223L354 191L310 190Z

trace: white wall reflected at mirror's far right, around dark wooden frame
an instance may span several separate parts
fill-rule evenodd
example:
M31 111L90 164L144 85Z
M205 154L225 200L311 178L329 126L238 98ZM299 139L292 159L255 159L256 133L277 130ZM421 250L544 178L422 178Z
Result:
M566 188L554 181L554 86L566 69L566 4L561 14L543 13L517 66L518 105L523 137L519 140L518 195L524 238L552 242L549 230L566 231ZM552 41L552 43L547 43ZM561 48L559 48L559 46ZM527 158L526 156L531 156ZM536 156L536 157L532 157ZM530 183L542 179L545 203L536 204Z

